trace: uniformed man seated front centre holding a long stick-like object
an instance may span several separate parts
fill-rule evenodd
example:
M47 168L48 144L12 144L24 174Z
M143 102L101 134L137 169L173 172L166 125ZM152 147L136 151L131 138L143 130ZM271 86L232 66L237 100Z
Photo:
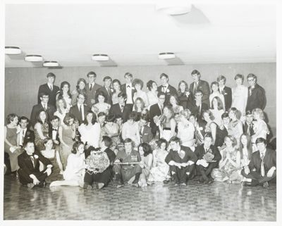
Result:
M114 172L118 187L122 187L125 182L136 187L142 172L142 168L138 163L141 161L140 153L133 149L133 141L130 138L124 140L125 149L119 150L114 161Z

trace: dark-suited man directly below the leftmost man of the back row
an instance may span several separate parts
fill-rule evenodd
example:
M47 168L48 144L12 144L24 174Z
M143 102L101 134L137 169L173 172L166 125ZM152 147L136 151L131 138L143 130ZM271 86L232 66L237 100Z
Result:
M37 114L39 111L44 110L47 113L48 118L51 118L56 109L53 105L49 104L49 94L47 93L41 93L39 94L39 98L41 102L35 106L32 107L31 115L30 115L30 123L32 126L35 126L35 123L37 123Z

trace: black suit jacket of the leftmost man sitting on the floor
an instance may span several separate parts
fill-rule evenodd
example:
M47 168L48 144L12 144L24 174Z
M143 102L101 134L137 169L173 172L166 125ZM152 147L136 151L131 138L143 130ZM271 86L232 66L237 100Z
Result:
M35 153L33 153L33 156L35 155L38 156L38 158L34 157L35 167L33 167L32 160L30 156L27 155L26 151L18 156L18 165L27 175L31 175L33 172L39 172L39 161L44 165L51 165L49 159L42 156L42 153L40 153L39 151L35 151Z

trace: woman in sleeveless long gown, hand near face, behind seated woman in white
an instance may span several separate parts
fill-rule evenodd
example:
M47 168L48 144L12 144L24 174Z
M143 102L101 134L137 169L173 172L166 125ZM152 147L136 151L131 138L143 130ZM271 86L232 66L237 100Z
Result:
M63 119L64 125L59 127L59 138L61 142L60 156L63 169L66 169L68 156L71 154L73 147L76 126L75 116L67 113Z

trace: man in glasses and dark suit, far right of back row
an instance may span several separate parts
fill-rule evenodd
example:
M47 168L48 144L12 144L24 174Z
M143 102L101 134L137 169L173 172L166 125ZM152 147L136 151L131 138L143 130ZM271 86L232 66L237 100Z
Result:
M252 112L255 108L264 110L266 106L265 91L257 84L257 76L254 74L247 75L247 82L250 86L248 87L246 111Z

